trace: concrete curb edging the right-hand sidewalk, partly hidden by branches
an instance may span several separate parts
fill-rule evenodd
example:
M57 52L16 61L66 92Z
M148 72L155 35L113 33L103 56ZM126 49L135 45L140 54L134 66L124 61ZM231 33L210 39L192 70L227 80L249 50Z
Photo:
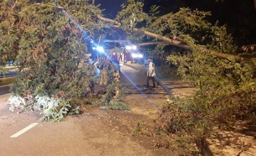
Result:
M141 73L147 74L147 71L145 69L139 69L137 67L131 66L130 64L124 64L125 66L131 67L137 71L140 71ZM164 83L161 82L157 77L155 77L155 81L160 84L160 86L167 92L167 94L171 97L175 97L174 94L172 93L171 89L167 87ZM210 150L210 147L206 140L200 140L196 142L197 147L201 149L201 154L202 156L214 156L213 152Z

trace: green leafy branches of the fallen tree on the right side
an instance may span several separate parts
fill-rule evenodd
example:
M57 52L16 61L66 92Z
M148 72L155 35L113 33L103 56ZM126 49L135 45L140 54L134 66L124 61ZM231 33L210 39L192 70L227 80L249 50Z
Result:
M181 8L158 16L156 6L145 14L141 2L128 0L128 4L117 15L120 27L130 32L130 37L140 34L140 37L149 36L149 41L152 37L155 37L153 40L166 37L165 41L180 41L176 45L181 48L172 48L167 63L178 67L183 80L192 81L199 89L194 96L174 99L163 107L159 123L167 135L175 134L180 147L191 149L193 143L209 137L216 126L234 125L237 121L255 124L256 59L236 62L235 57L221 59L211 52L235 53L233 38L225 25L209 23L206 16L210 16L210 12ZM130 13L133 10L135 15ZM133 25L127 25L132 18L135 18ZM175 45L171 40L166 43ZM155 51L165 51L166 46L169 45L158 45Z

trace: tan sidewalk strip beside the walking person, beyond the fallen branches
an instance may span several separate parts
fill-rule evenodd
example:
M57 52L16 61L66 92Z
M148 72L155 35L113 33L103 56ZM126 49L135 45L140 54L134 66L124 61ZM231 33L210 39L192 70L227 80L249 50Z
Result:
M133 69L139 70L142 73L147 73L147 67L143 64L124 64L125 66L132 67ZM157 83L159 83L164 90L170 95L174 97L184 97L187 95L192 95L195 93L196 88L189 85L184 81L170 81L170 80L160 80L155 77Z

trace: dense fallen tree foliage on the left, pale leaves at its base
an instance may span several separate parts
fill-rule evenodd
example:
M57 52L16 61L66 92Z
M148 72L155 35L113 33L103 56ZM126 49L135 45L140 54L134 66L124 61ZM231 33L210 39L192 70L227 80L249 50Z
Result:
M76 99L97 98L94 66L81 62L87 62L90 36L108 27L97 19L98 6L89 0L1 0L0 6L1 62L17 53L20 64L11 87L14 103L43 110L43 120L59 121L79 113Z

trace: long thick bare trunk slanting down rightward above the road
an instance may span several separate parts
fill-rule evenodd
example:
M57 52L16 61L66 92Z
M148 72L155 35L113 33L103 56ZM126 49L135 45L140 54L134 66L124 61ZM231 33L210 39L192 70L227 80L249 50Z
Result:
M111 20L109 18L103 18L101 16L98 16L98 18L102 21L110 22L110 23L114 24L113 27L117 27L117 28L121 27L121 23L119 23L115 20ZM152 32L140 30L138 28L134 28L133 32L136 32L136 33L139 33L139 34L142 34L142 35L146 35L148 37L153 37L153 38L159 39L159 40L164 41L164 42L166 42L170 45L173 45L173 46L178 46L178 47L181 47L181 48L184 48L184 49L190 49L190 47L188 46L187 43L182 42L182 41L178 41L177 39L172 39L172 38L160 36L160 35L154 34ZM239 57L239 56L236 56L236 55L219 53L217 51L208 50L207 48L203 48L202 50L210 51L213 55L215 55L217 57L220 57L220 58L224 58L224 59L228 59L228 57L233 57L233 58L235 58L236 61L250 60L249 58L242 58L242 57Z

